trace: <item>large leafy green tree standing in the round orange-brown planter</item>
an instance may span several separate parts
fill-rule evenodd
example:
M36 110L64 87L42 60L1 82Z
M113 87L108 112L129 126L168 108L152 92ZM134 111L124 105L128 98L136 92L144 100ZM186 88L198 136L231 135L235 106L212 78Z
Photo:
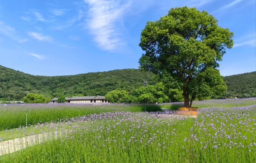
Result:
M139 45L146 53L140 58L140 68L172 77L183 91L184 106L191 106L195 98L226 90L216 68L225 49L233 46L232 37L206 11L172 8L142 30Z

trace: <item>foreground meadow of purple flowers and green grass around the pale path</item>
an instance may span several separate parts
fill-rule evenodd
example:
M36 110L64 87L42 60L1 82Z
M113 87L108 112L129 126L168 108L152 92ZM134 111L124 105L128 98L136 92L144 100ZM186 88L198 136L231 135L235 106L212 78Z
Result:
M255 98L201 101L199 106L210 107L201 107L197 118L168 118L166 114L172 111L143 112L143 107L139 111L138 106L129 110L125 105L125 110L123 105L109 105L106 112L15 129L17 133L59 130L67 134L2 155L0 162L255 163L255 102Z

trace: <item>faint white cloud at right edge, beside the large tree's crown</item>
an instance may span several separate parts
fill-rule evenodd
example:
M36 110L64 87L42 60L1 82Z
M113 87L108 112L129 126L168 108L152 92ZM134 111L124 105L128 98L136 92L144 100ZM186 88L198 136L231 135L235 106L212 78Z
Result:
M233 47L241 47L244 45L256 47L256 33L255 32L250 33L248 35L244 35L244 36L234 40Z

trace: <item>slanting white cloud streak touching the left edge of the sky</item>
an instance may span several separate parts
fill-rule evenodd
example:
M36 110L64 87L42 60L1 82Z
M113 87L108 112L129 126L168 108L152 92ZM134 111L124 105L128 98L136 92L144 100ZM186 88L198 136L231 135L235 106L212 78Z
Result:
M14 41L18 43L24 43L28 41L28 39L21 38L18 34L16 34L16 30L0 21L0 33L10 37Z

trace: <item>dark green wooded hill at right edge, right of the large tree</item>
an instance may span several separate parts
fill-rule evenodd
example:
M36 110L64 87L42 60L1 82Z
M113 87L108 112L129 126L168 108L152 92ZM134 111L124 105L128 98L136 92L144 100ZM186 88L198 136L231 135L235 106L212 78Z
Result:
M256 71L224 77L228 86L226 95L222 98L256 97Z

